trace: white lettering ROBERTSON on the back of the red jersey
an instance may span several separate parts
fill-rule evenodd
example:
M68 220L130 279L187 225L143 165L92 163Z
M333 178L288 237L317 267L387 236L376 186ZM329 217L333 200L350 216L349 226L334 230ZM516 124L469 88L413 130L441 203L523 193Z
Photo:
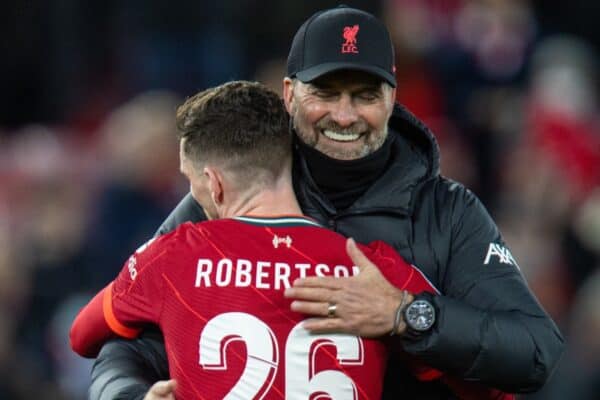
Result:
M284 262L222 258L216 263L200 258L195 287L254 286L258 289L287 289L296 278L306 276L347 277L359 273L357 266L327 264L288 264ZM291 281L291 282L290 282Z

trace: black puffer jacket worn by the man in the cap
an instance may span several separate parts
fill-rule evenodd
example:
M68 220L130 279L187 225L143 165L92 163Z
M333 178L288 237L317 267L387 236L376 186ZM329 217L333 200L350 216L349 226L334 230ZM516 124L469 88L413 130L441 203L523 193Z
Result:
M304 212L358 241L386 241L441 291L435 298L439 315L434 330L418 341L404 340L407 352L431 366L507 392L540 388L562 353L560 332L528 289L477 197L439 175L439 151L429 130L397 107L390 131L396 135L392 162L343 212L323 196L304 160L296 157L294 185ZM202 218L201 209L188 196L159 233ZM160 349L153 345L145 351ZM132 365L142 362L139 357L145 351L127 349L130 346L122 343L105 346L94 370L91 399L119 398L114 393L124 390L125 382L103 388L100 383L118 375L119 369L130 372ZM135 384L136 378L129 376L129 384ZM137 383L144 378L148 379L140 372ZM452 396L442 385L420 383L402 365L390 365L384 398Z

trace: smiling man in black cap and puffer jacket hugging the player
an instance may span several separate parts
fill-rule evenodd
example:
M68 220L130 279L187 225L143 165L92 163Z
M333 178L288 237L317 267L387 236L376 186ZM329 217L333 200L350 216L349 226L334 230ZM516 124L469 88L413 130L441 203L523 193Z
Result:
M385 283L361 274L299 280L286 296L296 299L295 311L321 317L307 329L392 334L404 351L450 375L506 392L535 391L562 352L560 332L480 201L439 175L429 129L394 104L393 60L387 30L368 13L339 7L302 25L284 79L297 138L294 188L305 214L361 242L386 241L442 295L407 293L407 306L396 314L389 310L404 293L374 291ZM188 196L159 233L201 219ZM398 329L390 332L396 315ZM166 378L161 357L164 349L152 338L106 346L90 398L143 398L149 382ZM388 368L384 398L452 396L403 365Z

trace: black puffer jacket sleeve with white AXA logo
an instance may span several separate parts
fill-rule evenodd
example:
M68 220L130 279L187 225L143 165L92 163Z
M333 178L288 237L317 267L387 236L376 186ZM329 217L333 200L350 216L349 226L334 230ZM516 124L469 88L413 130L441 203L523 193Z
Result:
M435 199L435 236L448 246L436 324L417 340L402 339L403 347L467 381L510 393L538 390L560 358L563 338L481 202L456 183L445 192Z

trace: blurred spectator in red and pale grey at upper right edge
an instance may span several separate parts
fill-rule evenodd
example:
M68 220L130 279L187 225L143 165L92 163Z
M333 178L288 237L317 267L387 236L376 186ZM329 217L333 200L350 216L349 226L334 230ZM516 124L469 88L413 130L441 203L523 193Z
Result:
M528 135L574 201L600 185L597 67L591 47L573 37L546 39L533 57Z

